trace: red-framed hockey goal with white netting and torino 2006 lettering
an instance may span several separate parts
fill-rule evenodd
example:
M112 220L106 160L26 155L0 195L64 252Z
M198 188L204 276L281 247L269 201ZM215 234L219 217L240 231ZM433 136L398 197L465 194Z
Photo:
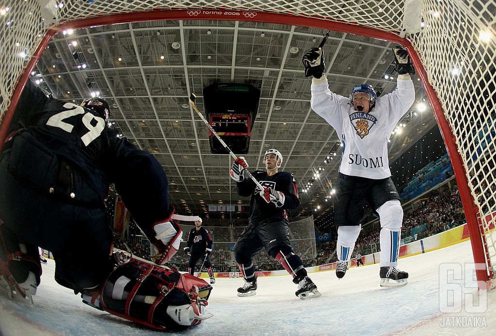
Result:
M478 279L488 281L496 261L495 6L482 0L3 0L0 139L38 57L62 29L155 19L226 20L233 17L226 13L237 13L240 21L398 43L410 52L433 107L460 189L475 262L487 265Z

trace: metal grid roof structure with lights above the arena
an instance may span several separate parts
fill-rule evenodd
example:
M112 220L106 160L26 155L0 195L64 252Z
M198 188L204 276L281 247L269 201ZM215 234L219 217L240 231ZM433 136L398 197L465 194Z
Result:
M316 28L215 20L61 31L39 60L34 77L43 78L45 89L67 101L79 103L99 91L111 106L113 126L162 164L176 212L207 218L227 218L223 212L209 212L208 205L246 205L249 200L237 195L229 177L232 157L210 152L208 129L188 97L194 93L198 109L204 111L204 87L214 82L254 85L261 95L244 156L250 170L263 169L265 150L278 149L284 156L281 169L292 172L299 184L302 206L292 216L307 216L332 197L341 152L336 132L310 108L310 79L301 62L323 34ZM330 89L348 96L354 85L367 82L379 95L394 90L394 46L331 32L324 46ZM436 124L421 82L415 75L413 80L416 103L398 125L403 132L391 135L390 162ZM422 102L425 112L417 107Z

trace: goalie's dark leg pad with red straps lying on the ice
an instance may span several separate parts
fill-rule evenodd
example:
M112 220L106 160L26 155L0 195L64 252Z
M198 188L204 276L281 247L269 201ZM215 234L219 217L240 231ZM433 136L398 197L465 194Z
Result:
M212 289L206 281L122 252L114 257L116 268L100 289L104 311L160 331L185 330L211 316L203 309ZM169 309L175 312L170 315L172 306L182 308ZM187 312L187 323L184 317L178 319L181 309Z

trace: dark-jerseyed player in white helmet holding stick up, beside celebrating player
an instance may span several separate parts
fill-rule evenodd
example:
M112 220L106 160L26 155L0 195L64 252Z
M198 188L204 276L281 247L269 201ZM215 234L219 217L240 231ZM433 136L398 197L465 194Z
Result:
M300 205L298 189L293 175L279 172L283 157L276 149L265 152L263 162L266 171L256 170L253 177L264 187L260 190L251 179L244 177L248 163L243 156L233 162L230 175L237 183L238 195L250 196L248 226L238 238L234 251L245 285L238 288L238 296L256 294L255 267L251 258L265 249L293 275L298 284L296 295L301 299L320 296L317 286L307 276L302 260L293 252L289 241L288 216L286 209L293 210Z

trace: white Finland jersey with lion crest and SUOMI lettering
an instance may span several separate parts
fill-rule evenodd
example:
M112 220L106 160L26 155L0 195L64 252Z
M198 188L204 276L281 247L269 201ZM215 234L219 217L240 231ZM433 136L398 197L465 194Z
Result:
M411 79L398 79L396 89L377 98L370 113L355 111L349 98L329 90L327 81L311 85L313 111L336 130L343 144L339 171L369 179L391 176L387 140L414 100Z

